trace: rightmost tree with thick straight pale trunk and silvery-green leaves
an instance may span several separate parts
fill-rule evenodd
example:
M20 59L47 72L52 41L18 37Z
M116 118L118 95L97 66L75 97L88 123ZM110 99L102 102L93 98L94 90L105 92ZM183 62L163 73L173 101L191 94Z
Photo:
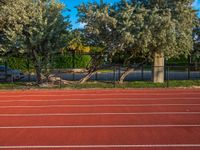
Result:
M164 58L187 57L192 50L195 16L192 3L193 0L150 0L144 4L157 10L150 12L154 20L149 21L153 35L149 49L154 52L154 82L164 81Z

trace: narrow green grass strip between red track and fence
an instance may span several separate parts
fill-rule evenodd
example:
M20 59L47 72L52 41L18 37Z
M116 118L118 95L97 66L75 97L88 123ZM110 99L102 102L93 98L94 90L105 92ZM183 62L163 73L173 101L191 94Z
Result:
M170 81L169 82L169 87L194 87L200 86L200 80L183 80L183 81ZM38 89L39 87L36 86L29 86L25 85L24 83L20 82L15 82L15 83L0 83L0 89L26 89L26 88L35 88ZM105 88L166 88L167 83L152 83L152 82L145 82L145 81L136 81L136 82L125 82L124 84L116 84L114 86L113 83L111 82L87 82L85 84L70 84L70 85L63 85L61 88L71 88L71 89L85 89L85 88L100 88L100 89L105 89ZM47 89L52 89L52 87L46 87ZM53 87L55 88L60 88L60 87Z

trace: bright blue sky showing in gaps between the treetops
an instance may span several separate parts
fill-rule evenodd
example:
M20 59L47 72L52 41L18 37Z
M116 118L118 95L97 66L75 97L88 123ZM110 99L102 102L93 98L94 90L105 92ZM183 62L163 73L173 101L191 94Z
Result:
M78 6L80 5L81 3L83 2L93 2L95 0L60 0L62 3L64 3L67 8L69 8L71 10L71 12L69 12L70 14L70 21L73 25L73 28L79 28L81 27L82 25L77 23L77 10L76 8L74 8L75 6ZM99 1L99 0L97 0ZM107 2L107 3L114 3L114 2L117 2L119 0L104 0L104 2ZM200 0L195 0L194 4L193 4L194 8L199 10L200 11Z

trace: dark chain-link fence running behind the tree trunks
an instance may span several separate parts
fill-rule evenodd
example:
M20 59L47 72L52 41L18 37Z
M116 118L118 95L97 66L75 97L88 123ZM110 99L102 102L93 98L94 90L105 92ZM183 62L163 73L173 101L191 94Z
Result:
M79 81L87 75L87 70L81 66L80 68L75 61L76 57L72 59L72 66L66 68L54 68L48 69L49 75L54 75L55 80L66 80L66 81ZM86 57L84 58L86 59ZM88 59L88 58L87 58ZM190 59L191 60L191 59ZM77 61L81 61L80 59ZM85 60L84 60L85 61ZM28 61L27 61L28 62ZM24 63L24 62L23 62ZM85 62L84 62L85 63ZM81 64L81 63L79 63ZM19 66L19 65L18 65ZM11 68L8 63L0 65L0 82L36 82L36 74L34 67L27 63L24 65L25 69L21 70L16 68ZM137 64L133 65L135 68ZM76 68L75 68L76 67ZM153 67L151 64L141 65L136 70L129 73L124 81L152 81L153 78ZM160 68L160 66L157 66ZM177 63L166 63L165 66L161 66L164 70L165 81L171 80L199 80L200 79L200 63L188 61L187 63L177 64ZM99 81L99 82L111 82L117 83L120 77L125 72L127 68L120 64L106 65L98 69L89 79L89 81ZM59 81L58 81L59 82ZM62 82L60 82L62 83Z

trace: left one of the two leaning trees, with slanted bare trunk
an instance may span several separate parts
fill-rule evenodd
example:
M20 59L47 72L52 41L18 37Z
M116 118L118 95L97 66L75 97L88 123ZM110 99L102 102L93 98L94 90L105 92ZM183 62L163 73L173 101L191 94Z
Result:
M109 10L110 6L104 4L103 1L100 3L83 3L78 7L79 21L85 24L84 36L87 39L87 45L102 47L102 51L96 53L96 55L92 55L88 74L80 83L87 81L102 65L103 54L105 52L112 52L111 49L116 47L117 41L115 37L117 36L116 32L113 32L116 28L116 19L110 16ZM110 46L107 46L107 44Z

